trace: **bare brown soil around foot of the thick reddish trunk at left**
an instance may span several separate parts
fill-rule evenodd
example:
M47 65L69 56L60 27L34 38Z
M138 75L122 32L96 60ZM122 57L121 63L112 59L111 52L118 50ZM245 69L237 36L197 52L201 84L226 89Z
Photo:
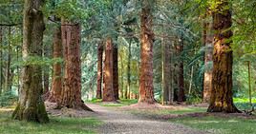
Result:
M56 103L45 102L46 110L49 115L59 116L59 117L73 117L73 118L82 118L82 117L92 117L96 116L95 112L73 109L62 107L61 109L57 109Z

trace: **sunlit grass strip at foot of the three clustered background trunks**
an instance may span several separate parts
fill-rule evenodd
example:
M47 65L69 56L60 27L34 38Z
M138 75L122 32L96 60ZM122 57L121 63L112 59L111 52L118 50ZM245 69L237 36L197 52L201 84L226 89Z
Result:
M118 103L108 104L108 103L102 103L101 99L94 99L92 101L88 101L88 103L102 105L102 106L108 106L108 107L115 107L115 106L126 106L126 105L133 105L137 104L138 100L129 100L129 99L121 99L118 100Z

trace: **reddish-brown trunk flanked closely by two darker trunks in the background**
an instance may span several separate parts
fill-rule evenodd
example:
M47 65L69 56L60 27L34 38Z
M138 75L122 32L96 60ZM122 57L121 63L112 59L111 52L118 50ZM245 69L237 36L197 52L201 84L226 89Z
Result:
M104 87L102 102L116 102L113 86L113 43L112 39L108 38L105 46L104 59Z

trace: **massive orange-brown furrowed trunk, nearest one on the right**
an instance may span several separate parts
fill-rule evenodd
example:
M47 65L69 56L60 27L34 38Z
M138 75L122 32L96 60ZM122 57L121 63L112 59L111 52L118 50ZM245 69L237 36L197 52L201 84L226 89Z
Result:
M231 49L232 21L228 1L217 0L213 12L214 51L212 92L208 112L239 112L233 104Z

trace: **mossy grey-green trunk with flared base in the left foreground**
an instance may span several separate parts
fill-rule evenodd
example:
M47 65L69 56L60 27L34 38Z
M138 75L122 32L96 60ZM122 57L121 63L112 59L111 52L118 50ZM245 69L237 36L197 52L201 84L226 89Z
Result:
M23 60L30 62L32 57L42 57L43 13L42 0L25 0L23 17ZM22 69L22 89L19 102L12 118L29 122L47 123L49 118L41 94L42 68L39 65L26 65Z

